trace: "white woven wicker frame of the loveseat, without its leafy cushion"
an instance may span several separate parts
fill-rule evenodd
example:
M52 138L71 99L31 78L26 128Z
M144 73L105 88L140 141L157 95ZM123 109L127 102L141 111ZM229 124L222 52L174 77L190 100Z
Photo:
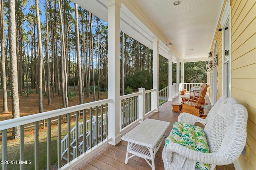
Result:
M178 121L205 125L204 132L210 153L188 149L176 143L164 147L162 159L166 170L194 170L196 162L216 165L231 164L236 160L246 143L247 110L235 98L221 97L209 111L206 119L181 113Z

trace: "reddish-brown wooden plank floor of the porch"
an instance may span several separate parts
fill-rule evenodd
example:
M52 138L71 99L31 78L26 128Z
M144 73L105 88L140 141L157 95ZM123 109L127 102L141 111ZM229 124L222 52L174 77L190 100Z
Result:
M183 95L182 95L183 96ZM181 98L177 98L174 102L181 102ZM206 98L206 103L209 103ZM171 102L166 102L160 106L160 111L151 115L150 119L157 119L162 121L170 121L170 127L167 130L169 134L172 129L172 124L177 121L179 113L172 112ZM205 109L208 113L209 110ZM162 149L164 143L158 150L155 156L155 168L156 170L164 170L164 164L162 161ZM150 170L152 169L148 163L138 156L134 156L128 160L128 164L125 164L127 142L121 141L118 145L106 145L98 153L87 158L82 164L78 164L76 170ZM216 166L216 170L235 170L234 165Z

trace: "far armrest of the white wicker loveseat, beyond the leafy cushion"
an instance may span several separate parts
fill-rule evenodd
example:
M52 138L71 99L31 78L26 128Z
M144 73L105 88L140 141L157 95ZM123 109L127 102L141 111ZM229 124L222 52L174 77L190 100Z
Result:
M191 125L194 125L194 123L199 122L204 125L206 125L206 119L202 119L201 117L192 115L190 113L180 113L178 117L178 121L182 123L189 123Z

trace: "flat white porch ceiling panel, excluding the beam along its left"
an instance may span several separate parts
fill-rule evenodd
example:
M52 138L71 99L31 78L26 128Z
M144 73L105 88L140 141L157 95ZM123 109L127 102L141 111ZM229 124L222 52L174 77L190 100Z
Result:
M180 57L207 59L224 0L135 0ZM193 50L190 50L193 49Z

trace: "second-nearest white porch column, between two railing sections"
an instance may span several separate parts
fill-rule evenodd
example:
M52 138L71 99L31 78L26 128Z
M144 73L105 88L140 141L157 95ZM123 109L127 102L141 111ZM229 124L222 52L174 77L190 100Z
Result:
M159 70L159 54L158 54L158 38L153 38L153 89L156 89L154 93L154 111L159 111L159 96L158 96L158 70Z

